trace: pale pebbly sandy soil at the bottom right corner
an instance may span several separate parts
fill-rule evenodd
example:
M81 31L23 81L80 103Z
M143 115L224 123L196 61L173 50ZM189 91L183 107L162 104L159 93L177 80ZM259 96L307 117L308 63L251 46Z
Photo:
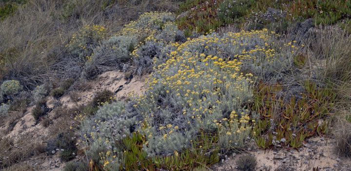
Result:
M351 159L343 159L334 152L333 139L322 141L320 137L307 139L306 147L301 150L280 149L273 154L274 150L263 150L254 148L251 152L243 152L228 156L227 159L216 163L211 167L213 171L239 171L235 161L243 155L254 155L257 159L256 171L268 171L265 168L271 167L274 171L278 167L281 171L312 171L319 168L319 171L351 171ZM308 152L311 149L312 152ZM340 159L340 162L336 159ZM335 165L336 164L336 165ZM329 169L329 170L328 170Z

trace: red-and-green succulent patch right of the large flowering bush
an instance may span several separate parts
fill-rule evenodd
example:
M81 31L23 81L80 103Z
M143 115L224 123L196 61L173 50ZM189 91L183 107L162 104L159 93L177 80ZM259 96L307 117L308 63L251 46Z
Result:
M302 93L303 98L298 101L294 96L290 101L278 96L277 92L282 90L279 84L271 86L260 82L255 87L252 110L258 112L261 119L253 131L260 148L289 144L297 149L303 145L305 138L329 133L330 120L324 117L332 110L335 94L329 89L317 88L309 80L304 85L306 93ZM278 119L277 114L281 114ZM321 118L323 122L318 124Z

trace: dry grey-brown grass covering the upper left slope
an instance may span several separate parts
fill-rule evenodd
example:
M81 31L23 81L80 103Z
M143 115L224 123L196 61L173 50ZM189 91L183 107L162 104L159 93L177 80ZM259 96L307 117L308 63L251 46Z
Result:
M150 11L175 11L180 0L29 0L0 24L0 75L32 90L70 57L65 47L84 25L98 24L115 35L125 24ZM69 68L66 68L69 70ZM57 73L59 77L67 73ZM79 73L69 73L77 76Z

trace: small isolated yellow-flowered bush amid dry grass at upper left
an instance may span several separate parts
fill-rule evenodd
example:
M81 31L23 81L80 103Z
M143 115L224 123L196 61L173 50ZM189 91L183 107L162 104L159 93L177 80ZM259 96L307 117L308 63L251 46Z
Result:
M66 45L70 52L80 59L89 59L93 49L106 38L106 29L100 25L85 25Z

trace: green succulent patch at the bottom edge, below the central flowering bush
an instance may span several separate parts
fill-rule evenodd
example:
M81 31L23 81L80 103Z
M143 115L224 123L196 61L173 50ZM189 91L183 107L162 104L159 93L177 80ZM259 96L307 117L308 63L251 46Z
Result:
M184 149L181 153L175 151L172 156L154 156L147 158L147 153L142 151L142 144L146 141L140 134L133 133L132 137L123 139L127 147L124 153L126 171L136 171L148 169L156 171L157 169L172 169L174 171L187 171L189 168L197 166L210 166L219 161L219 146L216 145L218 138L209 138L206 133L194 139L193 146L195 150ZM213 147L216 146L215 150ZM210 153L210 157L204 154ZM157 169L156 169L157 168ZM123 169L121 165L120 169Z

